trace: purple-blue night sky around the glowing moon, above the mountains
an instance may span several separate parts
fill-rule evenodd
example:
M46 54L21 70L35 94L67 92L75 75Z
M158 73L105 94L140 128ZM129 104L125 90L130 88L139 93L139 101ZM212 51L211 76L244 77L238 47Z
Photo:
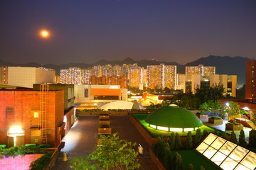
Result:
M39 31L50 30L50 38ZM256 57L256 1L2 0L0 59L66 64Z

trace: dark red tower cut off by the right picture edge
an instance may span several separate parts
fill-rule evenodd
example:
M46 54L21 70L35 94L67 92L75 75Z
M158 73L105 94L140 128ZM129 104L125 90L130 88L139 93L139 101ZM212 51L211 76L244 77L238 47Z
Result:
M256 60L246 62L245 98L256 99Z

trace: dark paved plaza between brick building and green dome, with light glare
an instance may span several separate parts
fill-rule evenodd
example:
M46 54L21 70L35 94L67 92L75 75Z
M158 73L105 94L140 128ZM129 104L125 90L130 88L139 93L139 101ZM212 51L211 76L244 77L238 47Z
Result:
M97 127L99 125L99 116L89 115L79 117L75 125L65 136L65 147L61 149L59 158L53 169L66 170L70 169L70 160L75 157L86 157L92 153L97 147ZM137 128L131 123L128 115L111 115L110 125L112 133L118 132L120 138L131 142L137 142L144 148L144 156L142 158L143 170L157 170L156 164L149 157L149 144L139 133ZM134 149L137 149L135 147ZM68 161L63 162L63 152L68 154Z

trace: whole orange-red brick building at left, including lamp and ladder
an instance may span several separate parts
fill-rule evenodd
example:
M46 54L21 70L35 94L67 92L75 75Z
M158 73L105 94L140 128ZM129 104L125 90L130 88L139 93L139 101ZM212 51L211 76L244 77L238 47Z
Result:
M64 91L1 90L0 144L60 144L65 135Z

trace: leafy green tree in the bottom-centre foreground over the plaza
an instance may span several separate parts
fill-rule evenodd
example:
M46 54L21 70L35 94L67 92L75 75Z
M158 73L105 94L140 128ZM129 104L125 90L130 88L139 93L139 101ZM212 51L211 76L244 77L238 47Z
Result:
M137 152L133 149L136 143L121 140L114 133L109 136L103 136L102 142L92 154L85 159L74 159L70 168L73 169L137 169L141 165L137 159ZM91 160L91 161L89 161ZM88 165L87 167L85 165Z

